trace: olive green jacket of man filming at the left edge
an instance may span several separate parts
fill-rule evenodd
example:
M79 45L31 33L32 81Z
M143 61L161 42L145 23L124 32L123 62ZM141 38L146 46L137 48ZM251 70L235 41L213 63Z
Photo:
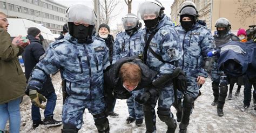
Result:
M18 61L22 47L11 43L11 36L0 28L0 104L22 97L26 78Z

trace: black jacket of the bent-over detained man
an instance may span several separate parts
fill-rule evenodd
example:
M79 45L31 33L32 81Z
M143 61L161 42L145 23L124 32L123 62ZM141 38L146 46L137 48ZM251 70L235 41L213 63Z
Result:
M134 91L150 86L153 79L157 76L158 73L157 71L151 70L149 67L147 67L147 65L145 65L139 58L134 58L134 56L121 58L115 64L111 65L110 68L107 68L107 70L104 72L104 84L105 86L107 86L106 89L112 88L114 96L117 99L127 99L130 97L130 95L127 95L127 97L124 96L122 98L117 97L117 94L126 95L129 93L123 87L123 82L120 80L119 77L119 69L126 62L134 62L138 64L140 69L142 70L142 79L140 80L140 83L138 84L137 88L134 89Z

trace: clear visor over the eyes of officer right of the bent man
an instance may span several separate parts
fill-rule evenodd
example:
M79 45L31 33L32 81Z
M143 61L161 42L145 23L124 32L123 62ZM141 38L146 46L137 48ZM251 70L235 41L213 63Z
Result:
M151 20L159 16L160 6L152 2L144 2L139 5L138 18L142 20Z

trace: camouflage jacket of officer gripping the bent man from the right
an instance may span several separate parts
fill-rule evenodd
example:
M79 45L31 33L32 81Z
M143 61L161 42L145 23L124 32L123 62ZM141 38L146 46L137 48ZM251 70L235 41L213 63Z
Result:
M159 55L164 62L158 60L158 58L154 56L148 48L146 64L150 69L159 72L159 76L165 73L172 73L177 67L173 65L173 63L181 60L183 55L183 49L181 47L178 32L173 28L171 21L164 14L164 17L159 21L159 24L153 31L147 32L146 28L143 29L142 51L144 52L146 45L144 38L146 36L148 39L152 32L156 32L156 34L150 41L149 47L151 47L154 53Z

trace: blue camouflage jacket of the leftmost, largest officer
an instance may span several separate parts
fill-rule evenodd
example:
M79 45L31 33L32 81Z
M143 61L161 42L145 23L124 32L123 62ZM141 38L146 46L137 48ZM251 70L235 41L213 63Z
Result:
M80 100L103 98L103 70L110 65L108 48L97 36L89 44L77 41L67 33L64 39L51 43L32 71L28 90L41 90L46 75L59 69L70 97Z

